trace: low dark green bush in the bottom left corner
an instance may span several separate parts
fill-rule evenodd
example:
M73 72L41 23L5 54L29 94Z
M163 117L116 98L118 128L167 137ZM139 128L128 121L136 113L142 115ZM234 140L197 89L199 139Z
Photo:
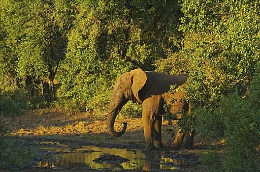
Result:
M0 168L15 167L32 163L32 151L17 139L0 139Z

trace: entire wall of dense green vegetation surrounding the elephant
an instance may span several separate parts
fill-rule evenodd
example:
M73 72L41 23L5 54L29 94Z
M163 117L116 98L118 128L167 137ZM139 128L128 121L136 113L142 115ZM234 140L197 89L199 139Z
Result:
M189 73L192 118L180 124L227 139L224 171L256 171L259 28L258 0L1 0L1 114L56 106L100 115L126 71Z

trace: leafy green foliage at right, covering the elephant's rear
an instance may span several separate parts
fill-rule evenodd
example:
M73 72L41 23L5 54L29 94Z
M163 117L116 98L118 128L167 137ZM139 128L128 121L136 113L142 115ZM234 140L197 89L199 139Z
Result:
M190 116L195 116L192 124L206 140L227 139L223 169L256 171L260 3L183 0L181 10L182 49L158 61L158 70L178 74L188 69L186 98L192 104ZM190 125L188 118L182 123L184 128Z

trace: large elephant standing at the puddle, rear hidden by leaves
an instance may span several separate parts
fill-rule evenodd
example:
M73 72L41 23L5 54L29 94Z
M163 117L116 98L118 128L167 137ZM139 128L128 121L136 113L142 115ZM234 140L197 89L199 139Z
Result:
M123 135L127 129L127 122L123 122L124 126L120 131L114 130L114 122L117 114L122 107L130 100L134 103L142 104L142 123L144 129L144 139L146 147L144 150L152 150L162 146L162 115L164 112L164 102L170 104L172 94L168 91L170 86L178 87L186 83L187 74L169 75L153 71L143 71L142 69L134 69L130 72L122 74L115 83L113 93L110 99L107 119L107 131L113 137ZM186 102L181 102L183 93L174 94L177 99L171 104L171 112L181 112L188 108ZM181 103L181 105L177 105ZM193 132L191 132L193 133ZM184 139L185 133L178 131L171 147L178 148L183 140L187 140L190 146L193 143L193 136L189 135L189 139ZM192 142L191 142L192 141Z

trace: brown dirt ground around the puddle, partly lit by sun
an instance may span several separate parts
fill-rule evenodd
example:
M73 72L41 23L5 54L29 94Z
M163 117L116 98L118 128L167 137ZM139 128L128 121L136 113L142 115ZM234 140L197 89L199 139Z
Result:
M93 117L89 113L67 113L55 109L40 109L27 111L25 115L8 117L1 116L1 120L8 126L9 137L19 138L20 141L35 152L35 158L31 166L21 166L16 169L1 169L1 172L108 172L109 169L77 169L77 168L39 168L35 164L39 159L52 159L59 148L62 151L73 151L84 146L96 146L104 148L143 149L145 147L141 118L116 119L115 129L120 130L123 121L128 122L126 133L119 137L110 137L106 132L106 117ZM173 138L167 134L168 129L175 129L176 124L167 126L167 121L162 125L162 143L167 145ZM195 136L194 149L173 150L165 146L152 153L162 152L164 156L181 156L187 161L193 162L179 166L174 172L204 172L204 167L199 163L199 156L205 153L210 145L205 145ZM212 146L210 146L212 147ZM48 151L46 151L48 150ZM50 151L55 150L55 151ZM66 153L66 152L64 152ZM119 171L129 171L121 169ZM143 171L143 170L137 170ZM150 171L158 171L151 169ZM160 170L168 172L171 170Z

